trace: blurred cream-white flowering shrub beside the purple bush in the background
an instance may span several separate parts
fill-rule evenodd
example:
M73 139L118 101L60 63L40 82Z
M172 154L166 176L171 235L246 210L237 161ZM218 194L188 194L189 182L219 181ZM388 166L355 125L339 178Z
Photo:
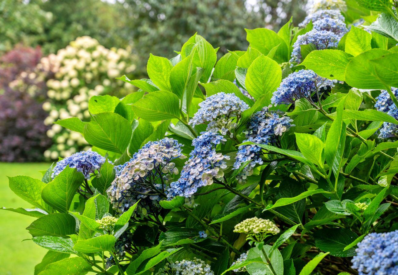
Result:
M47 67L53 68L55 77L47 81L48 100L43 104L43 109L49 113L44 121L46 125L70 117L87 121L89 99L94 95L125 95L125 83L115 77L135 70L128 50L107 49L88 36L78 37L57 54L42 58L38 68ZM57 124L47 131L47 136L54 144L45 151L46 158L68 157L88 147L81 134Z

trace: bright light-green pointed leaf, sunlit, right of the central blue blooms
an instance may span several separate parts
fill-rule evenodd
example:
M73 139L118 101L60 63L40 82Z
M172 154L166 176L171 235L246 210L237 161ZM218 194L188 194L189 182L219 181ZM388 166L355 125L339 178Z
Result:
M324 166L325 144L318 137L310 134L295 133L297 146L304 157L319 167Z

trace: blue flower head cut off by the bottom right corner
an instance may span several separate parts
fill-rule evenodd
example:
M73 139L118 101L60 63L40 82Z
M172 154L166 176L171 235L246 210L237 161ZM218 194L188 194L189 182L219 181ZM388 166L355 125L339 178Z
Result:
M359 275L398 274L398 230L370 233L357 246L351 262Z

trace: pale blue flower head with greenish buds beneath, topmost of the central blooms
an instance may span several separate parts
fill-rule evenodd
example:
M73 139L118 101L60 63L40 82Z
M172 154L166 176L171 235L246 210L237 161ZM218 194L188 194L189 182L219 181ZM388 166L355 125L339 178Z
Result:
M220 131L222 135L226 135L237 125L233 118L239 118L242 112L249 108L249 105L234 93L220 92L207 97L205 101L199 103L199 107L189 124L195 126L208 123L207 131Z

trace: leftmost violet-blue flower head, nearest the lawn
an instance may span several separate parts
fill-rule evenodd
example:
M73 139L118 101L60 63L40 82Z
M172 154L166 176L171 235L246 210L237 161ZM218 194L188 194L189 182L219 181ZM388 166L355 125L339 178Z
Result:
M53 168L52 178L55 178L62 172L66 166L70 168L76 168L78 172L84 175L84 178L89 179L90 174L94 174L95 171L99 171L101 166L105 163L105 158L93 151L81 151L66 157L55 165Z

